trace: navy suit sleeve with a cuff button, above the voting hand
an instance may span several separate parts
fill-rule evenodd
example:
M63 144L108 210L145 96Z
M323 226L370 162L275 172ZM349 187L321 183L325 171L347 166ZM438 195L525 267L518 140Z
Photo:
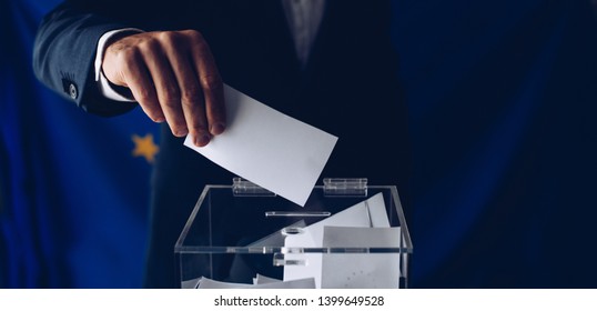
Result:
M107 99L94 80L93 60L100 37L130 27L101 9L67 1L48 13L36 37L33 71L42 83L79 108L109 117L124 113L136 103ZM108 11L108 7L103 10Z

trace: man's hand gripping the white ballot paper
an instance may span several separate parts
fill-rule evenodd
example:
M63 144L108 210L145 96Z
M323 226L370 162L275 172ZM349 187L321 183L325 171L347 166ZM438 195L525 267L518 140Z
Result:
M155 122L176 137L191 133L199 147L225 128L222 79L210 47L194 30L143 32L118 39L105 50L102 70L129 88Z

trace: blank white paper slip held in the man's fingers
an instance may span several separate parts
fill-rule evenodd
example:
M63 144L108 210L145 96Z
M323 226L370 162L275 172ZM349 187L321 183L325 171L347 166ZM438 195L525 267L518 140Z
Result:
M337 138L224 84L226 130L198 148L222 168L304 207Z

